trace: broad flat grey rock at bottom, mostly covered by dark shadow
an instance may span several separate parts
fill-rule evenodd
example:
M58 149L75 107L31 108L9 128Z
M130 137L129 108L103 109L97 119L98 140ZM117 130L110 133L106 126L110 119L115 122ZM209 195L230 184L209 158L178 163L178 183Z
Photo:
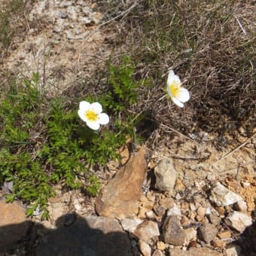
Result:
M62 218L62 217L61 217ZM62 221L59 221L62 222ZM37 256L132 255L130 239L113 218L87 216L50 231L41 239Z

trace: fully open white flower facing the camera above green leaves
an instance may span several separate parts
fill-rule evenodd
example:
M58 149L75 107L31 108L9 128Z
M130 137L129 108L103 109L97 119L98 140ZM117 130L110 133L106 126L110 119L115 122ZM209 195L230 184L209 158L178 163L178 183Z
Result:
M102 105L99 102L92 104L86 101L80 102L78 115L93 130L99 130L100 124L109 122L108 114L102 113Z

